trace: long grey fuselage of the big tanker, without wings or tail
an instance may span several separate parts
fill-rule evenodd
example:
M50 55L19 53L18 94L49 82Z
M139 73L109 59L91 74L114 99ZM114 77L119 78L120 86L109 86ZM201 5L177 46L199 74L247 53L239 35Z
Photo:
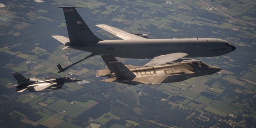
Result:
M225 40L212 38L198 40L193 38L103 40L98 42L97 45L86 48L86 50L96 54L111 54L115 57L123 58L154 58L155 56L176 52L187 53L188 56L186 57L210 57L224 55L233 51L230 44Z

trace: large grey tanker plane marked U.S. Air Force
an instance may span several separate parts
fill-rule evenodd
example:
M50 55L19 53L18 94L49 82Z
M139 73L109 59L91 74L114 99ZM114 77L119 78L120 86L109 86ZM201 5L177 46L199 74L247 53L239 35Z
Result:
M76 7L60 7L64 11L68 37L52 36L65 45L62 50L83 50L98 55L121 58L152 59L146 66L169 64L184 57L211 57L232 52L236 47L216 38L148 39L146 34L129 33L106 24L96 26L123 40L102 40L95 36L76 11ZM90 55L91 56L91 55Z

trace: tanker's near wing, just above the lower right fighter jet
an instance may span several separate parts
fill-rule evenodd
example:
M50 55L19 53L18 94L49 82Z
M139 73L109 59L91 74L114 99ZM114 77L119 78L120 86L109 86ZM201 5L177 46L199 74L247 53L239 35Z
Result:
M143 67L168 64L168 63L174 62L175 60L184 58L185 56L188 56L188 54L183 53L183 52L177 52L177 53L156 56L150 62L145 64Z

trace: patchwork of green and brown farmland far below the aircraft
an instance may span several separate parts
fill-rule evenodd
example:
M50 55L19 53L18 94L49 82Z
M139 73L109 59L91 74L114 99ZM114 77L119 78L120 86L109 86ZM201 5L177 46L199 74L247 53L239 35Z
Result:
M148 38L220 38L236 50L195 58L220 72L176 83L106 83L93 56L54 77L82 79L51 92L16 92L11 72L48 78L89 52L61 50L68 37L59 6L76 10L102 39L118 39L96 24ZM253 128L256 127L256 2L248 0L1 0L0 128ZM118 58L142 66L150 60Z

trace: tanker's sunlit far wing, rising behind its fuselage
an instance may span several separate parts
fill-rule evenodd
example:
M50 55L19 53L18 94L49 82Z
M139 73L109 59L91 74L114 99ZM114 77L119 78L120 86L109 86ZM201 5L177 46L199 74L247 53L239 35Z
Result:
M124 40L134 40L134 39L145 40L145 39L147 39L147 38L144 38L142 36L137 36L136 34L125 32L125 31L120 30L118 28L108 26L106 24L97 24L96 26L99 27L99 28L102 28L103 30L105 30L107 32L110 32L111 34L113 34L113 35L115 35L119 38L122 38Z

